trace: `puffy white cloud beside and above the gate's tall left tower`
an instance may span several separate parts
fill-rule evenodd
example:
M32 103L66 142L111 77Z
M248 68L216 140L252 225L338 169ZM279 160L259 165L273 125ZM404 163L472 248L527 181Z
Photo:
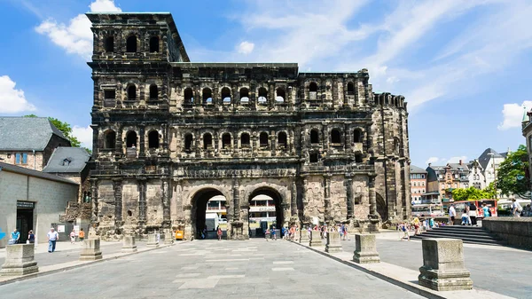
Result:
M121 9L114 5L113 0L96 0L89 7L90 12L121 12ZM48 35L52 43L64 48L67 53L90 59L92 32L90 20L84 14L78 14L69 21L68 25L54 19L44 20L35 28L35 31L41 35Z

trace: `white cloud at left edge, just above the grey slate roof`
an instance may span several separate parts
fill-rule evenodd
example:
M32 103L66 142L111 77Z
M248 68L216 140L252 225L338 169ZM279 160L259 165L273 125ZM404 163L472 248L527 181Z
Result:
M35 111L35 106L27 102L23 90L15 89L17 83L8 75L0 76L0 113L16 114Z

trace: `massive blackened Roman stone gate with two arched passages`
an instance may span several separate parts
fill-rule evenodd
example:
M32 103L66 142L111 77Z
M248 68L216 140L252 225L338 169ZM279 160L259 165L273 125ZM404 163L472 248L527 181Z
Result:
M279 225L375 231L409 218L406 103L373 93L366 69L191 62L170 13L87 16L91 222L101 238L160 229L191 238L216 195L231 240L247 238L258 195L273 199Z

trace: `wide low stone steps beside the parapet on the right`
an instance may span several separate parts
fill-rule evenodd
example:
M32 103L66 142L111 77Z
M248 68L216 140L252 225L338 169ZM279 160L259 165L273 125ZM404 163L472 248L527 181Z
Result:
M477 226L452 225L441 226L417 236L411 236L412 240L428 238L453 238L461 239L468 244L481 244L491 246L503 246L505 242L497 239L494 235L482 230Z

